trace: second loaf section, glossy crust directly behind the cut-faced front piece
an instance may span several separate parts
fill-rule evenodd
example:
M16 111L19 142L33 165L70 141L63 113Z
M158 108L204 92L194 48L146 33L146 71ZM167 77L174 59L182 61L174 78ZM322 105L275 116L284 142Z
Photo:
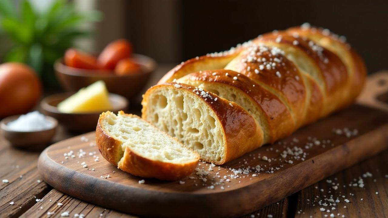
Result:
M282 101L243 74L218 69L191 73L177 81L210 90L243 107L262 127L263 144L286 137L295 129L291 113Z

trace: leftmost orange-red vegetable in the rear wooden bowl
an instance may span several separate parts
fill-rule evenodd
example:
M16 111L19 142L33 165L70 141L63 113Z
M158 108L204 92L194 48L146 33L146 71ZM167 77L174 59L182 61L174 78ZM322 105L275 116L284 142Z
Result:
M69 48L64 56L64 64L79 69L99 69L97 59L85 52Z

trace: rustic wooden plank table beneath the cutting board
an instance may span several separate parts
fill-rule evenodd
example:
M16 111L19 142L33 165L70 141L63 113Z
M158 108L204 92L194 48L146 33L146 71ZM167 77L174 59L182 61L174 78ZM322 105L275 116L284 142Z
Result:
M159 67L150 84L171 68L171 66ZM369 77L367 87L360 96L359 102L388 111L388 106L382 103L388 104L388 95L385 93L386 90L380 88L386 84L388 84L388 72L373 74ZM371 100L368 90L372 89L381 93L378 96L379 101ZM131 110L139 113L139 106L132 107ZM59 128L54 142L73 136ZM66 212L69 217L82 217L82 215L85 217L134 217L81 201L53 189L39 175L36 167L39 154L40 152L11 147L0 134L0 179L9 180L8 183L0 183L0 217L61 217L61 215L67 215ZM362 178L363 187L360 187L360 178ZM340 184L338 189L333 189L333 182ZM345 196L341 202L345 201L345 198L350 202L346 204L346 207L338 206L330 213L322 213L320 203L324 201L320 202L320 200L330 198L331 195ZM58 206L59 202L63 205ZM243 217L310 218L325 217L324 215L330 217L327 214L333 214L332 217L388 217L388 151L383 151Z

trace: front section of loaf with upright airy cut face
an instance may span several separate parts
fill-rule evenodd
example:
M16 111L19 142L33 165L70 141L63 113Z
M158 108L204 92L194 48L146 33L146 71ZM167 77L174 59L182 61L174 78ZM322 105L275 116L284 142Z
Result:
M263 130L244 108L208 90L184 83L151 87L142 118L196 150L201 159L223 164L260 147Z

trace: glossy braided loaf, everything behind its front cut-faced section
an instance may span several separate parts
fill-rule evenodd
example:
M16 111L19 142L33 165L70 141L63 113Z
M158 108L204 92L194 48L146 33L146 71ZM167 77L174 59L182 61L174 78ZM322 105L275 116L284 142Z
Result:
M232 70L228 71L230 75L237 74L237 81L220 75L225 73L223 69ZM238 74L246 77L241 76L240 81ZM174 79L193 80L222 83L225 87L240 90L260 107L269 128L263 131L272 134L269 141L273 142L300 126L352 104L364 86L366 74L364 62L344 37L327 29L303 24L260 35L226 55L190 59L168 72L159 83ZM252 83L258 84L255 90L248 88ZM152 89L147 92L152 92ZM284 111L283 106L288 112ZM152 106L145 104L144 107ZM218 113L220 122L229 119L229 112L221 108L212 109ZM274 120L268 120L272 117ZM284 122L281 122L281 117L284 117ZM235 129L244 129L244 123L239 123L242 126ZM261 123L258 125L265 126ZM228 140L232 136L226 134L225 137ZM242 141L238 145L241 151L249 150L245 144ZM235 150L239 151L237 148Z

